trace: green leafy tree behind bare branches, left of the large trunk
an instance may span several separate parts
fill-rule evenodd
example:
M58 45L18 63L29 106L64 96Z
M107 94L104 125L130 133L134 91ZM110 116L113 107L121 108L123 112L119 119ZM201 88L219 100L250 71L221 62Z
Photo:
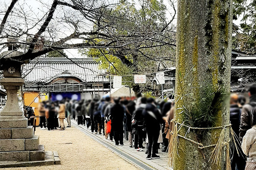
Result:
M100 28L115 23L118 27L113 28L111 34L116 37L127 39L128 37L140 37L145 34L153 34L147 40L137 40L136 43L127 42L122 48L98 48L80 50L81 54L89 57L98 57L101 68L116 75L150 74L161 68L167 68L175 63L175 31L171 19L166 18L167 8L162 0L140 0L139 5L134 2L123 1L113 10L103 13L105 24ZM172 4L173 5L173 4ZM113 17L114 16L114 17ZM121 19L122 18L122 19ZM94 27L95 30L99 26ZM91 36L91 37L94 37ZM98 39L98 44L107 42L108 39ZM90 42L90 40L86 40ZM139 85L128 82L133 77L124 77L125 85L130 85L136 93L140 93ZM151 84L151 83L150 83Z

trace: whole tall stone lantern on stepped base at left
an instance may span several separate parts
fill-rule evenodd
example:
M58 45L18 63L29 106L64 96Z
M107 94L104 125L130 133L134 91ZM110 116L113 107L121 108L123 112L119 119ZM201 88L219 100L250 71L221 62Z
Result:
M39 145L39 136L33 135L33 127L28 126L18 104L17 91L24 84L21 78L21 65L24 62L12 60L12 57L21 54L18 51L5 51L0 55L0 69L4 77L0 79L0 84L7 91L6 105L0 113L0 167L60 164L53 152L48 153L51 161L45 159L47 152L44 145Z

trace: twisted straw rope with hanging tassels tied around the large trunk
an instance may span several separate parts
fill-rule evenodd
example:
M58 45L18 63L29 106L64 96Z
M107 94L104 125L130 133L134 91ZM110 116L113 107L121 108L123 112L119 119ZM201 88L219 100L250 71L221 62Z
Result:
M172 119L171 122L174 123L174 129L170 130L170 141L169 141L169 148L168 148L168 156L169 156L169 166L173 166L173 160L175 157L179 156L178 153L178 144L179 144L179 137L183 138L185 140L188 140L189 142L192 142L194 144L198 145L199 149L205 149L208 147L214 147L214 149L212 150L212 154L209 158L209 161L211 161L211 163L213 164L221 164L221 154L223 149L226 149L226 170L231 170L231 164L230 164L230 142L232 142L233 144L235 144L235 148L238 152L238 148L236 146L236 142L235 142L235 133L233 131L233 129L231 128L231 124L229 125L224 125L224 126L218 126L218 127L191 127L188 125L184 125L183 123L179 123L177 122L175 119ZM218 137L218 141L216 144L210 144L207 146L204 146L204 144L194 141L192 139L189 139L185 136L182 136L179 134L179 131L181 128L186 127L188 128L187 133L190 133L190 129L194 129L194 130L213 130L213 129L222 129L221 133ZM226 141L225 139L225 130L230 130L230 138Z

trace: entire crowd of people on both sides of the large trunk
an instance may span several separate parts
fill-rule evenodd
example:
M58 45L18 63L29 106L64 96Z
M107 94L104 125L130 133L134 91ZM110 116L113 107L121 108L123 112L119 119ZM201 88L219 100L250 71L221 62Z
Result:
M249 86L248 96L249 102L244 95L232 93L230 96L230 123L239 150L231 146L232 170L249 170L248 166L256 169L256 83ZM75 119L78 125L90 128L91 133L104 135L117 146L122 146L125 139L137 151L146 148L146 159L157 159L160 143L164 146L162 152L167 151L175 107L172 101L142 96L134 100L105 96L102 99L42 102L38 111L42 130L57 127L64 130L64 119L67 119L67 127L71 127L70 119ZM34 125L33 109L26 107L26 113L29 124Z

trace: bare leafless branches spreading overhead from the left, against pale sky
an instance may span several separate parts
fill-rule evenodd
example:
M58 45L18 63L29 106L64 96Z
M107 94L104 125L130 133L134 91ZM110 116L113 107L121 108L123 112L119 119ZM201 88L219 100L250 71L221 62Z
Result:
M126 0L35 0L34 3L30 6L28 0L12 0L1 6L1 51L7 44L18 44L15 50L23 54L13 59L19 61L68 48L114 48L116 57L131 65L124 57L129 48L148 57L146 48L175 44L168 36L173 18L166 20L161 13L164 6L157 0L143 1L140 10L134 5L123 6L128 4ZM154 11L148 10L149 6ZM18 42L7 42L9 36Z

